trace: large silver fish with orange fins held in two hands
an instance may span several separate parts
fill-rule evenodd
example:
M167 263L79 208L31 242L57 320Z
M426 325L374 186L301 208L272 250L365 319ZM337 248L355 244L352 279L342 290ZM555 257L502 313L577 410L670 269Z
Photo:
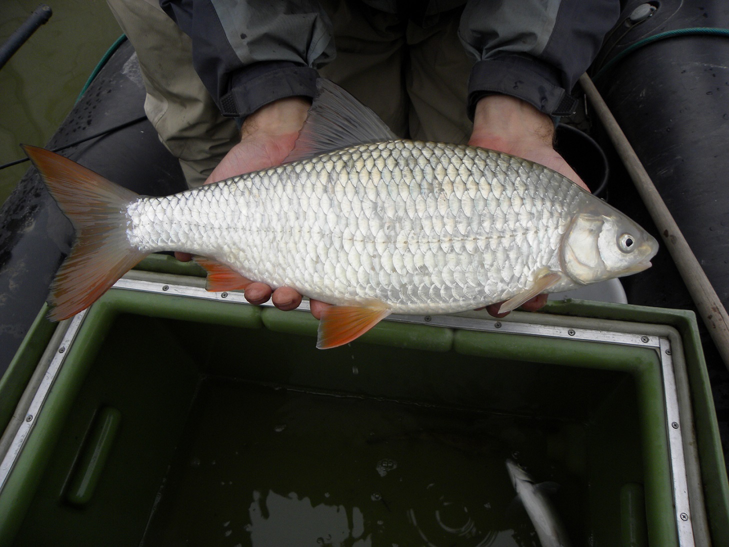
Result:
M658 249L628 217L521 158L397 139L324 79L281 166L163 198L24 147L76 241L52 282L51 319L90 306L144 256L197 255L208 290L243 278L335 304L317 346L391 313L448 314L642 271Z

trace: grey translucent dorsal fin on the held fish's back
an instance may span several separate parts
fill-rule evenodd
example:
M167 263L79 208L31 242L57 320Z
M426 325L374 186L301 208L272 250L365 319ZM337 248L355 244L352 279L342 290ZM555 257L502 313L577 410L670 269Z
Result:
M308 160L357 144L397 139L375 112L334 82L318 78L316 90L294 150L284 163Z

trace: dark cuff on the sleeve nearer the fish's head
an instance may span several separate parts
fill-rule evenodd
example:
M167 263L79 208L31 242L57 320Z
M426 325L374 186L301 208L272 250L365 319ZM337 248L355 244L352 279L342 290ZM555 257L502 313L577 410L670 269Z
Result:
M577 99L558 82L556 72L534 58L504 55L478 61L468 81L468 116L473 120L476 103L493 94L521 98L552 117L572 115Z

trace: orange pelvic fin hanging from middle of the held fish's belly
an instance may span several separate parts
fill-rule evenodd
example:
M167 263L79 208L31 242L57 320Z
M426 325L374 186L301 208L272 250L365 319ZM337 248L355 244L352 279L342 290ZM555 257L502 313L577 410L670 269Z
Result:
M363 335L391 313L383 303L370 306L328 306L321 312L319 349L343 346Z

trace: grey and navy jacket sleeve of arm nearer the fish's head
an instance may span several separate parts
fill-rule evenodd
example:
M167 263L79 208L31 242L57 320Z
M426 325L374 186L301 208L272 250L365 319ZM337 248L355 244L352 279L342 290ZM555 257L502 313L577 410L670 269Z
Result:
M552 116L574 112L569 95L620 15L618 0L469 0L459 36L475 60L469 115L491 93Z

